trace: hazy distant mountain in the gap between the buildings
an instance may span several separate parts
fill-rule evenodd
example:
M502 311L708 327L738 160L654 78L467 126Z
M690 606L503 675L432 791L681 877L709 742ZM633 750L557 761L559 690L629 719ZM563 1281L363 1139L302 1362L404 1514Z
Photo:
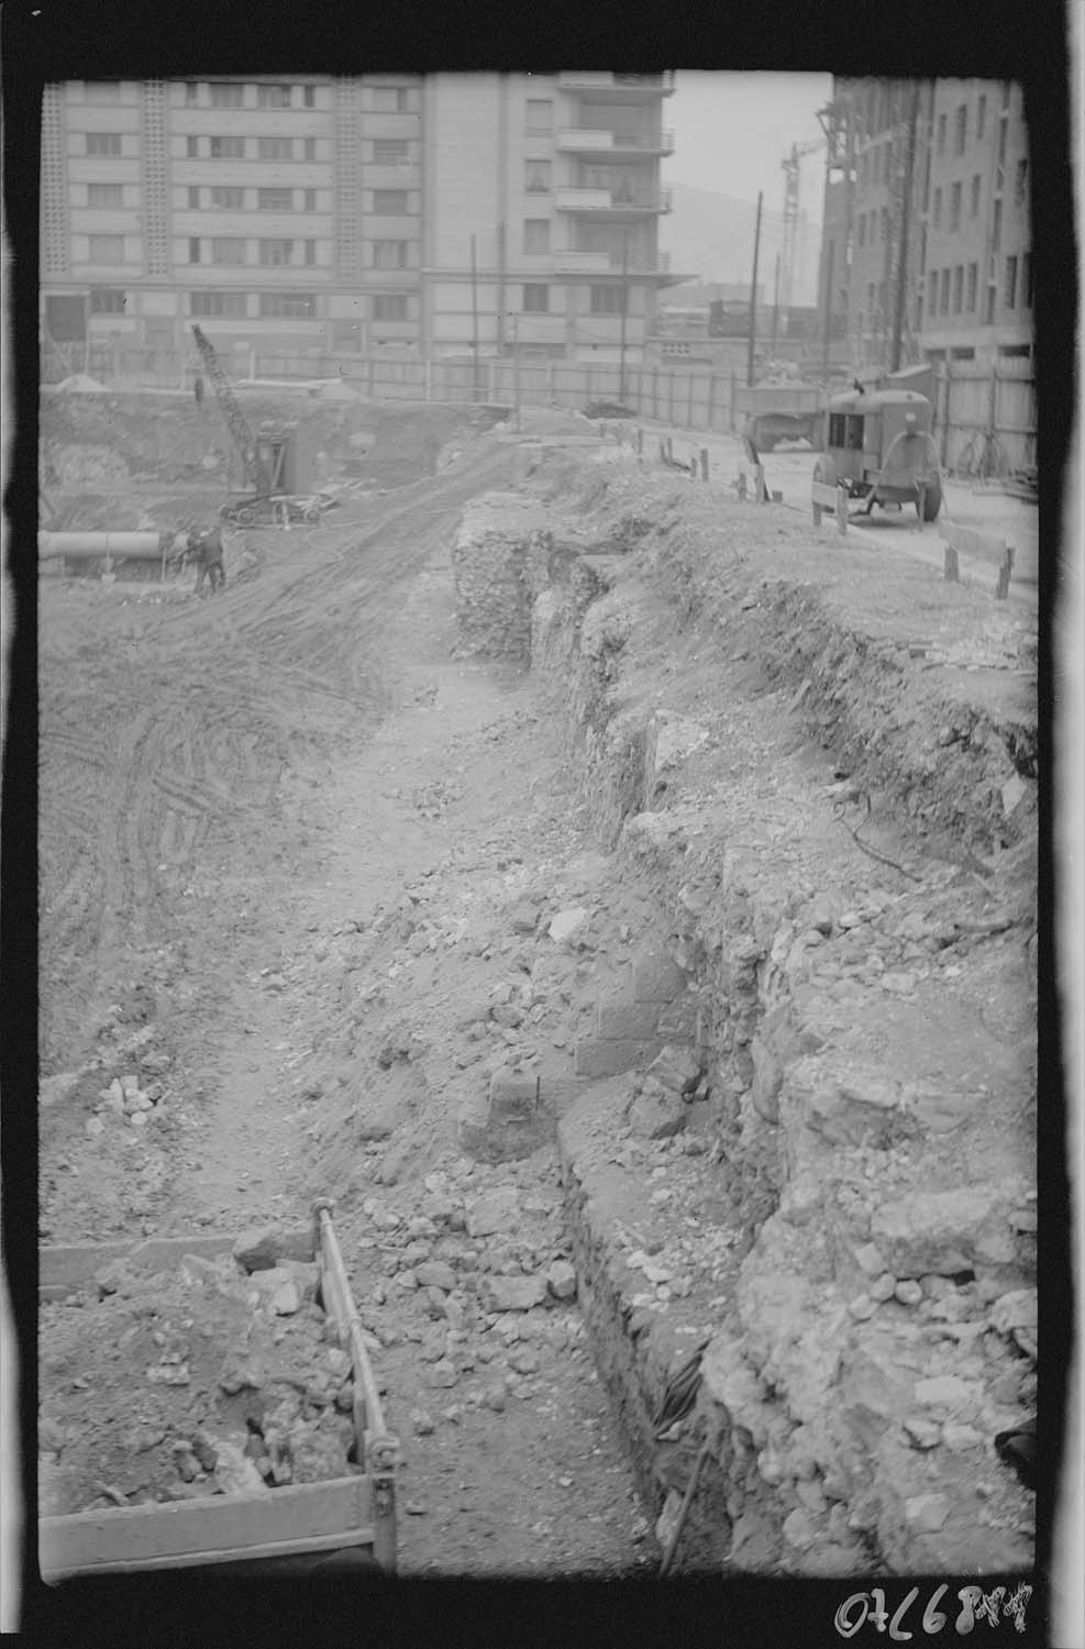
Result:
M671 269L696 280L747 282L754 270L757 200L740 201L689 183L668 183L671 211L660 219L660 247L671 254ZM782 185L783 188L783 185ZM783 209L762 209L762 244L757 284L763 302L773 300L777 254L783 246ZM791 303L818 302L821 224L806 214L798 221Z

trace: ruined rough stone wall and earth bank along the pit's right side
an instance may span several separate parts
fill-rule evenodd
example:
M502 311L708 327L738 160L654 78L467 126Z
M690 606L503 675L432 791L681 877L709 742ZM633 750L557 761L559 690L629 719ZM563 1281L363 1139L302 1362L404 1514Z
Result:
M1026 1568L1012 1509L968 1497L1003 1469L994 1430L1036 1392L1027 638L1006 632L991 689L983 666L978 681L955 668L951 610L946 632L925 613L894 635L877 607L848 602L839 574L820 579L798 529L768 513L759 531L791 534L798 559L787 543L745 554L737 505L566 467L557 488L571 486L575 514L547 518L538 500L503 503L503 523L493 505L470 511L455 556L475 557L486 608L478 627L465 604L465 632L491 653L511 637L529 660L615 876L651 889L653 942L683 981L683 1034L707 1073L704 1167L740 1240L676 1448L653 1415L689 1342L658 1303L645 1308L643 1276L615 1242L615 1209L635 1207L643 1186L592 1146L627 1126L607 1082L625 1098L636 1049L559 1125L592 1346L660 1539L706 1443L686 1567ZM683 669L711 678L704 719ZM843 796L828 818L866 800L914 848L937 843L938 866L848 857L795 787L721 783L724 759L734 773L773 757L759 698L767 721L782 726L783 707L793 742L831 757ZM777 749L787 757L787 737ZM856 940L874 947L869 973L826 961L854 958ZM956 1021L942 1024L932 968L950 948L963 984ZM976 1008L991 999L1006 1004L994 1034ZM973 1060L971 1085L932 1055L942 1032ZM587 1059L579 1069L592 1075Z

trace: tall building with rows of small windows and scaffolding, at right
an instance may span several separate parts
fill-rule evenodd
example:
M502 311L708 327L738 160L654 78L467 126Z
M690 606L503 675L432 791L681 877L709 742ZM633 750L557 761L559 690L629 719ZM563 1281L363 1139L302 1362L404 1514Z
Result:
M852 364L889 364L902 236L902 359L1027 355L1032 259L1021 87L838 79L824 124L820 312L831 272L831 312L844 318Z

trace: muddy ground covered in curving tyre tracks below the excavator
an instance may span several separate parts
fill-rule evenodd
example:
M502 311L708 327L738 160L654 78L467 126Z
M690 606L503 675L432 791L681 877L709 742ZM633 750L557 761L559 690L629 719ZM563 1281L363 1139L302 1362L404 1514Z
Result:
M247 859L287 770L336 759L364 737L381 709L371 643L389 604L511 462L510 449L490 450L397 490L368 519L292 533L289 559L275 556L275 539L259 579L214 600L160 607L142 630L125 625L120 663L109 641L82 641L78 666L58 655L64 669L82 671L84 658L99 669L86 666L84 698L68 689L43 716L43 867L53 861L59 879L76 857L45 899L41 971L56 983L48 1011L43 1003L43 1044L69 1044L79 1016L86 1036L117 975L190 925L175 902L178 877L200 854ZM117 737L94 731L96 714ZM86 775L78 787L73 763Z

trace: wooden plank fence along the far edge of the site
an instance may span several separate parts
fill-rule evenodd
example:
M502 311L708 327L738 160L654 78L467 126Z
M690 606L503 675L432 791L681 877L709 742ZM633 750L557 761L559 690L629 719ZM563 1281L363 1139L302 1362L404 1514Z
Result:
M488 402L500 406L585 407L612 402L635 417L676 429L734 432L735 389L744 374L693 366L630 366L510 358L404 359L381 355L272 355L251 350L226 361L236 379L317 383L343 379L373 401ZM41 358L43 383L87 373L104 384L188 389L203 371L195 356L124 350L115 345L51 346ZM935 439L943 468L976 477L1009 475L1036 465L1036 378L1027 359L994 366L951 361L935 378Z

